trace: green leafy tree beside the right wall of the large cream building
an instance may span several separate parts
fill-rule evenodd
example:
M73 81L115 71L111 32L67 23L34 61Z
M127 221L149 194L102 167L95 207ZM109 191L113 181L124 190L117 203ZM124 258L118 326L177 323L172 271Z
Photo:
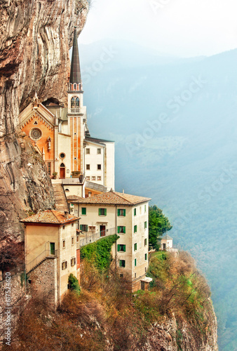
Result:
M163 215L162 210L156 205L149 206L149 246L158 250L158 239L170 229L172 229L172 225Z

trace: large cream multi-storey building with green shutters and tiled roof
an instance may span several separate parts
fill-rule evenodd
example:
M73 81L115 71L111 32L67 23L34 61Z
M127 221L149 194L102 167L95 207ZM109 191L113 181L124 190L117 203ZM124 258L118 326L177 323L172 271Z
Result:
M102 237L118 234L112 255L121 274L128 274L133 291L141 289L148 261L149 200L119 192L68 199L72 213L80 216L81 246Z

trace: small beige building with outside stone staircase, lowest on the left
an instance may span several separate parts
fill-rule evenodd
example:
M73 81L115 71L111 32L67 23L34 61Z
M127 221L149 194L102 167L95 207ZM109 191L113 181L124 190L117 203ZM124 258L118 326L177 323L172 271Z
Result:
M29 292L51 305L61 302L69 274L80 279L78 217L47 210L21 220L25 225L25 269Z

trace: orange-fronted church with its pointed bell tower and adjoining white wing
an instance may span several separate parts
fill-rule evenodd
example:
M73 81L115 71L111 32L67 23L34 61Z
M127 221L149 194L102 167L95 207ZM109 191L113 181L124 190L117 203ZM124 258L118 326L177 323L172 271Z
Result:
M65 106L57 98L39 102L35 96L20 113L21 130L43 157L50 177L61 180L68 195L114 190L114 142L92 138L87 126L76 29L67 97ZM81 192L75 192L75 185Z

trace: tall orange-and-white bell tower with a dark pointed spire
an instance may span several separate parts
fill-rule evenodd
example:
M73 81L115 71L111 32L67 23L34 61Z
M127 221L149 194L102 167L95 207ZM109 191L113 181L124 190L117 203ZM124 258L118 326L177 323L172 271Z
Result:
M72 48L71 72L68 84L68 126L71 135L71 169L83 173L83 140L85 138L86 106L83 106L83 86L76 27Z

